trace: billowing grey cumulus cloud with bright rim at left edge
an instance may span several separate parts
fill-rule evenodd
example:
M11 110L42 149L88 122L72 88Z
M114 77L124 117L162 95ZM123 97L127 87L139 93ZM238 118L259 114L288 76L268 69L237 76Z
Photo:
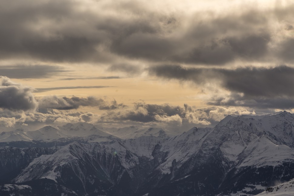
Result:
M32 92L33 88L14 83L5 76L0 76L0 108L8 110L35 110L38 106Z

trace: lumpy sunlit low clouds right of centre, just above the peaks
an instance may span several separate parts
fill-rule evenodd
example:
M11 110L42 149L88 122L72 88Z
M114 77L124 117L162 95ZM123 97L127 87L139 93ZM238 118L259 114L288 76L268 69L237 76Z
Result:
M201 126L215 125L226 115L255 114L252 109L241 107L212 106L195 108L184 104L184 106L173 106L170 104L147 104L144 102L134 103L133 108L119 111L108 111L102 115L97 122L111 123L142 123L163 124L164 126ZM175 127L172 127L174 129Z

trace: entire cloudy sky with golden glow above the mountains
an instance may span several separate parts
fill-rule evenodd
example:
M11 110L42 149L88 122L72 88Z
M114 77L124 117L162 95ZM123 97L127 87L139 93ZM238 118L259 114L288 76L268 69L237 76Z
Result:
M294 110L290 0L0 2L0 126L212 127Z

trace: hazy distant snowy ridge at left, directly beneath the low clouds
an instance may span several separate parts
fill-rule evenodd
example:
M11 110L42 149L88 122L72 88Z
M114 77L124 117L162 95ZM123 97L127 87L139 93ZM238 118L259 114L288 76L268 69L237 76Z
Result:
M68 123L64 126L45 126L34 131L25 131L17 129L0 133L0 142L13 141L44 141L52 142L58 139L74 139L80 138L90 142L103 142L116 139L131 139L141 136L155 136L161 138L169 138L175 133L162 128L145 128L124 127L124 128L105 128L99 125L88 123Z

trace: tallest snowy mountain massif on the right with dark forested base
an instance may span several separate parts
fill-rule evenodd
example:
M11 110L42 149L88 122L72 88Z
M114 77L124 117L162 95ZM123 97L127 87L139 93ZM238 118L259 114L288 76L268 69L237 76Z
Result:
M262 117L228 117L212 129L192 129L173 137L161 144L160 151L168 153L166 161L151 177L158 182L164 179L165 183L149 194L218 194L221 190L243 190L248 184L259 186L257 179L263 187L289 180L294 174L294 156L285 141L289 141L292 130L292 114L280 112ZM149 183L145 190L148 186L158 184Z

